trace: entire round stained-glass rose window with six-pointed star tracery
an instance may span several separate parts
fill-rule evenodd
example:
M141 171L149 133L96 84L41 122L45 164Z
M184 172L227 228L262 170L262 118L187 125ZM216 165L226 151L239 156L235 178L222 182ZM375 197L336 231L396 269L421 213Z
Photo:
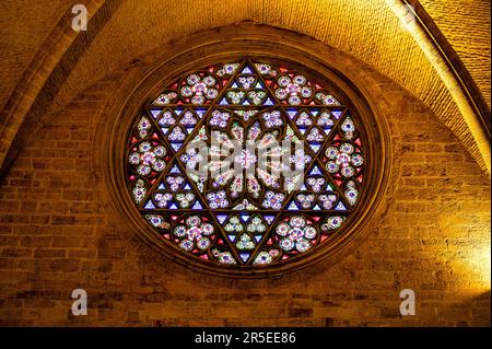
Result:
M235 269L289 263L342 234L359 203L367 161L358 123L336 92L288 65L206 67L142 107L128 138L128 190L156 233L191 258ZM269 146L285 140L303 141L288 154L301 176L267 171L285 155ZM209 175L192 171L204 161ZM242 172L214 175L232 165Z

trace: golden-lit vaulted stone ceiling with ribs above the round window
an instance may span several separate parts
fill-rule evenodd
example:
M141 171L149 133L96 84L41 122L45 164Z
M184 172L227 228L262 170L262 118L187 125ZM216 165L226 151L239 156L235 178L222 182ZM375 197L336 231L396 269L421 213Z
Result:
M313 36L395 80L431 106L490 173L490 130L483 125L491 104L488 0L78 2L87 5L87 32L70 28L73 1L0 2L0 163L30 115L62 108L106 73L184 35L253 21ZM423 31L402 25L403 3L425 10L403 19L423 19ZM436 33L435 42L423 43Z

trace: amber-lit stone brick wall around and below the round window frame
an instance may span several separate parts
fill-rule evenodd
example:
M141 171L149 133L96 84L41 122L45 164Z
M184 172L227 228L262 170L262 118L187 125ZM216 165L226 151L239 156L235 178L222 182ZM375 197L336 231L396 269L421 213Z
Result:
M33 131L1 184L0 325L490 325L490 275L487 286L476 261L490 246L489 178L429 107L347 65L379 98L395 146L387 210L354 253L282 278L227 280L127 239L91 170L117 72ZM77 288L89 293L87 316L71 315ZM405 288L415 291L415 316L399 314Z

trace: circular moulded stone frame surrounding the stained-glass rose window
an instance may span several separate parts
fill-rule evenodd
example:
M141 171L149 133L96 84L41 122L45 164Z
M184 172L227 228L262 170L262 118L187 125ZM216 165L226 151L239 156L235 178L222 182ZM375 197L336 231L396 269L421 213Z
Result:
M102 197L109 198L113 212L117 214L115 224L118 229L131 231L165 259L200 272L233 278L269 278L302 270L321 260L336 264L366 237L370 233L370 229L364 229L367 223L383 214L382 199L391 176L393 161L386 119L361 78L326 45L304 35L263 26L227 28L168 44L160 50L159 59L129 70L118 83L118 89L104 106L94 137L97 143L93 146L93 170L96 179L102 179L98 181L99 190L104 191ZM133 205L125 177L128 135L142 105L179 77L202 67L243 58L284 61L293 69L315 74L332 88L337 96L349 102L348 107L355 115L354 120L365 141L365 184L356 208L343 223L342 234L328 244L316 246L303 258L254 268L220 266L180 252L142 218Z

